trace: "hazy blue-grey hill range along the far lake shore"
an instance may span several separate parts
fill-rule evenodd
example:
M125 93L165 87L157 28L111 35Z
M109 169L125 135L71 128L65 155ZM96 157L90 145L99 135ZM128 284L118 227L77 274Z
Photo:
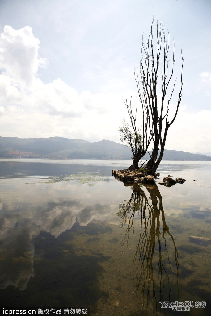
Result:
M0 158L131 159L131 156L129 147L105 139L91 143L63 137L0 137ZM148 159L147 153L143 160ZM211 157L166 149L163 160L211 161Z

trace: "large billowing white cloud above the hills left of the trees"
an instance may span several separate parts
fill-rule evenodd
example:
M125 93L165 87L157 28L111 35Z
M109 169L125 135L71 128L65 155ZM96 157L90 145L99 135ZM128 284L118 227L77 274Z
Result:
M117 132L121 96L78 94L60 78L47 84L40 80L37 71L47 62L38 56L39 40L30 27L16 31L5 26L0 49L2 136L97 141Z

